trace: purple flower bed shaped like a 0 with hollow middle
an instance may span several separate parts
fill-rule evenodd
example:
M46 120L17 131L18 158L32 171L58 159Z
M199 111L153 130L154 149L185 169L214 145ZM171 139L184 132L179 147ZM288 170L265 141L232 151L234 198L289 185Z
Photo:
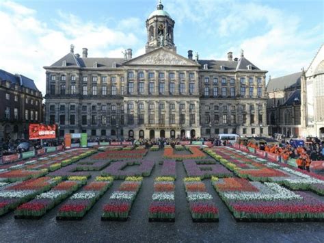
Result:
M113 162L110 166L105 168L101 175L111 176L114 179L125 179L126 177L148 177L154 167L152 161L139 161L139 162ZM125 171L126 166L139 165L135 171Z

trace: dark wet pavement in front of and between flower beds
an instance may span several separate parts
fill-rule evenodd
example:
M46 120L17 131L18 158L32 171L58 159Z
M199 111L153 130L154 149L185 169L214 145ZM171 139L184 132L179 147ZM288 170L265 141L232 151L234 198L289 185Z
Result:
M0 217L1 242L323 242L323 222L236 222L226 205L213 190L210 180L204 180L208 192L219 208L219 222L193 223L185 198L183 164L177 164L176 222L148 222L148 207L153 193L154 177L162 152L149 152L146 159L154 159L156 166L133 204L127 222L101 221L103 205L122 181L115 181L111 189L94 205L81 221L57 221L59 205L40 220L15 220L11 212ZM100 172L93 172L92 179ZM311 193L311 192L310 192ZM320 197L323 199L323 197Z

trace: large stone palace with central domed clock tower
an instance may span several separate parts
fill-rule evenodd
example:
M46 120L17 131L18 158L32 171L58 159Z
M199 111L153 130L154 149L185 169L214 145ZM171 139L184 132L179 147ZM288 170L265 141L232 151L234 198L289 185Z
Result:
M267 135L265 74L241 52L228 60L176 53L174 20L159 3L146 20L146 53L70 53L46 69L46 123L64 133L124 138Z

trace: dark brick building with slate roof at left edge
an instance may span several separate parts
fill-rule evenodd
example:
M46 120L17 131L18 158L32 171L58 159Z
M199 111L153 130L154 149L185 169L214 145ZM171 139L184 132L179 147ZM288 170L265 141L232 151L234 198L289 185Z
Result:
M33 80L0 70L0 140L28 139L29 123L42 121L42 93Z

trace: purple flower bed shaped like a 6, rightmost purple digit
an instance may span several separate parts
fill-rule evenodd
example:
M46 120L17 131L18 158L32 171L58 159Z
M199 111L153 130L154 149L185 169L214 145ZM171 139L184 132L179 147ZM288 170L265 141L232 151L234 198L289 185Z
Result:
M185 170L188 177L200 177L200 179L215 177L232 177L232 172L224 168L220 164L211 164L211 162L206 162L203 164L203 161L198 162L193 160L187 160L183 162Z

